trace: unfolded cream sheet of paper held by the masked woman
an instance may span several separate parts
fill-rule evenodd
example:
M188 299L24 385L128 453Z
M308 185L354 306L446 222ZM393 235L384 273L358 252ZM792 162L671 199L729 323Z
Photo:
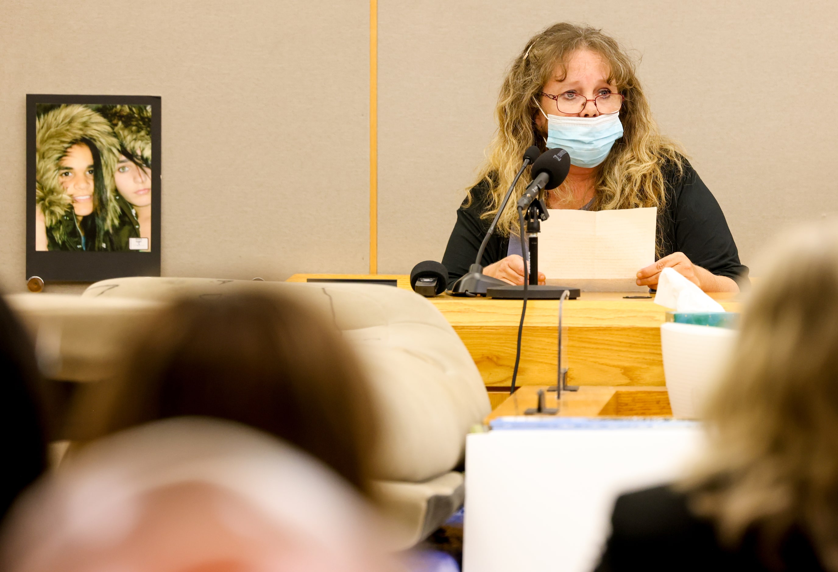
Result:
M658 209L550 209L541 223L538 266L548 279L620 280L654 262Z

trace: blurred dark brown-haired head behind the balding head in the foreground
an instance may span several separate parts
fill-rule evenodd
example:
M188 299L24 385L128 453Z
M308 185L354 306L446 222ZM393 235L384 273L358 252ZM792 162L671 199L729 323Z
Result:
M365 376L336 327L287 296L174 303L137 340L124 379L92 401L78 412L87 437L180 415L233 420L367 491L375 416Z

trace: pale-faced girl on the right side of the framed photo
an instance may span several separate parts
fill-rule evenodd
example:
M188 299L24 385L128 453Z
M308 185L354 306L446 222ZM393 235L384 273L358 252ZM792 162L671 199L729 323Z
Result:
M119 139L114 178L120 206L122 240L152 237L152 112L150 106L102 106Z

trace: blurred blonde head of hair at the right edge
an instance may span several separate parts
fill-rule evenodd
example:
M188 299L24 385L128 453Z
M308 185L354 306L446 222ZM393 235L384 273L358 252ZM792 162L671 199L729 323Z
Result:
M722 542L757 533L770 555L799 530L838 569L838 228L799 229L770 251L686 484Z

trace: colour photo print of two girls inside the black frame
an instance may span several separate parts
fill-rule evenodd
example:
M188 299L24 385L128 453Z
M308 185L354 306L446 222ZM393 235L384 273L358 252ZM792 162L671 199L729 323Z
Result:
M150 251L152 108L42 104L35 250Z

